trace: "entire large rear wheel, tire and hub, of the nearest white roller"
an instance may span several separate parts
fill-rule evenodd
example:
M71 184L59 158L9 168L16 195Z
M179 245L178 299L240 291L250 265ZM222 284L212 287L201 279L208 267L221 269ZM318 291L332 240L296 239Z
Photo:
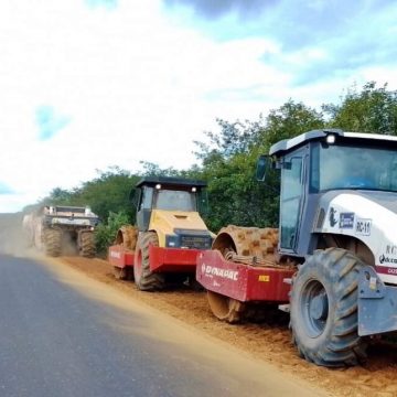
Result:
M290 328L300 356L328 367L366 358L357 333L357 280L364 264L341 248L316 250L292 279Z

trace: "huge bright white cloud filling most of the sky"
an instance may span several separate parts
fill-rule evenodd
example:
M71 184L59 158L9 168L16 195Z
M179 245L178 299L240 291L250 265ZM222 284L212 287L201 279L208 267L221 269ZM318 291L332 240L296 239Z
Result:
M313 46L283 54L266 39L213 41L167 19L160 0L89 8L84 0L14 0L0 4L0 212L51 189L69 189L96 169L139 169L139 161L186 168L193 140L215 118L256 119L288 98L311 106L334 100L352 82L326 77L291 89L291 66L326 60ZM363 78L382 71L363 71ZM360 76L355 76L357 81ZM52 107L69 122L40 141L35 111Z

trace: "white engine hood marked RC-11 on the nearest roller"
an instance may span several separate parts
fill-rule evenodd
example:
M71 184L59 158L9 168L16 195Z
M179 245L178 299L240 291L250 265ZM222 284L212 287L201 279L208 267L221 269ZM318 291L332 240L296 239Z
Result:
M323 194L319 204L313 232L362 240L373 253L382 279L397 283L397 194L333 191Z

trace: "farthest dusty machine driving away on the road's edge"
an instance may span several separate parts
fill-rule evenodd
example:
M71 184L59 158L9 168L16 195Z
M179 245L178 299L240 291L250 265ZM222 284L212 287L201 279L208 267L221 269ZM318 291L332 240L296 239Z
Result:
M89 207L44 205L24 215L22 227L30 246L47 256L78 253L94 257L94 229L99 218Z

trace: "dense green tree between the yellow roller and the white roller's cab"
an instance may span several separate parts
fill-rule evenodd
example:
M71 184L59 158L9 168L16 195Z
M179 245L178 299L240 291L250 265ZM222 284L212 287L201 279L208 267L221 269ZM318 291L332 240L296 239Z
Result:
M289 100L257 121L229 124L218 120L218 132L206 132L207 142L196 142L202 178L208 182L211 214L207 224L222 226L277 226L278 178L255 180L259 154L280 139L294 137L324 125L322 115Z

